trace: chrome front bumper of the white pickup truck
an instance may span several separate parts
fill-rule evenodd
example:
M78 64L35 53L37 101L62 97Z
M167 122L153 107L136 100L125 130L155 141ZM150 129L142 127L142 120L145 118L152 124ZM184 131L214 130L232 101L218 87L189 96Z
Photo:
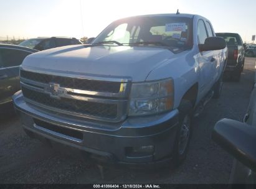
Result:
M127 118L118 126L111 127L103 122L96 124L42 111L26 103L21 92L14 94L13 99L16 110L21 114L22 126L34 136L89 152L97 160L108 163L163 164L171 160L179 125L178 110L156 116Z

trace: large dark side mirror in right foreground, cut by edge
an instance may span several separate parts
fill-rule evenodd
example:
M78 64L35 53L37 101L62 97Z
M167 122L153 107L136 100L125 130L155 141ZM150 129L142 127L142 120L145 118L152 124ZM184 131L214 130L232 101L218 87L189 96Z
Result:
M221 119L214 126L212 139L235 159L256 171L256 127Z

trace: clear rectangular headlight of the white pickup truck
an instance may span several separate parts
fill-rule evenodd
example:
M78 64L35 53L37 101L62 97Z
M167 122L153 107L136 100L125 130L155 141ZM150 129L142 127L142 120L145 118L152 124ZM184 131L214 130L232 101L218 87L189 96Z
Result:
M173 108L173 80L133 83L130 96L130 116L156 114Z

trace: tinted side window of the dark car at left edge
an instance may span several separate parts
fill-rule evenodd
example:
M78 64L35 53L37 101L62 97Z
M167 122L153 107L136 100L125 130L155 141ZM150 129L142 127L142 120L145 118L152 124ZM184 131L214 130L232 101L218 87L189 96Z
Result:
M15 67L21 65L27 55L31 52L22 50L0 48L0 67Z

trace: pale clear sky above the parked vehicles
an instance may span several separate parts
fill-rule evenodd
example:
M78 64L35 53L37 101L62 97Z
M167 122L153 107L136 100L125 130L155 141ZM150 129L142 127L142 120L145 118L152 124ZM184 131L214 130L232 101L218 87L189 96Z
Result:
M255 0L0 0L0 37L97 37L116 19L142 14L199 14L215 32L256 34Z

